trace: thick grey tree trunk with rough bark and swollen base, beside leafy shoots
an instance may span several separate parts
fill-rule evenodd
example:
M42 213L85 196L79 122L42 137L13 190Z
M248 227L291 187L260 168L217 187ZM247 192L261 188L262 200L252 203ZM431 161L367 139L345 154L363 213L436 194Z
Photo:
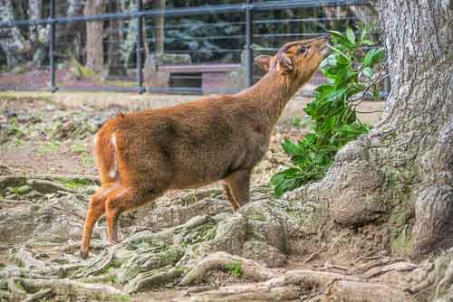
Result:
M419 257L453 246L453 11L448 1L374 5L390 63L384 115L306 193L343 226L387 223L395 239L395 224L409 225L406 252Z

